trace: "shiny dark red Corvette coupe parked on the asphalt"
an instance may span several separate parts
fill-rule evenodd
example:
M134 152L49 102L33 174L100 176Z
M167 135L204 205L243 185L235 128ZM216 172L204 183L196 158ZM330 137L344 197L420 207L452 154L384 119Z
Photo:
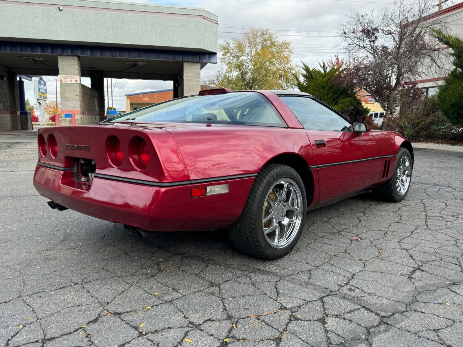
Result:
M288 254L306 212L373 190L407 195L413 149L307 93L214 89L100 124L38 130L50 207L147 230L228 227L240 250Z

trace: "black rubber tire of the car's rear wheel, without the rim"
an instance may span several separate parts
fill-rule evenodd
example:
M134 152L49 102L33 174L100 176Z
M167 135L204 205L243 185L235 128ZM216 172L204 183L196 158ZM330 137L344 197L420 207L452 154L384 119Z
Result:
M285 248L273 248L267 241L262 225L262 211L267 192L283 178L292 179L299 187L302 201L302 221L293 241ZM240 251L262 259L278 259L288 254L296 245L304 228L307 214L307 197L300 175L292 168L282 164L269 164L257 175L243 212L238 220L228 228L228 237Z

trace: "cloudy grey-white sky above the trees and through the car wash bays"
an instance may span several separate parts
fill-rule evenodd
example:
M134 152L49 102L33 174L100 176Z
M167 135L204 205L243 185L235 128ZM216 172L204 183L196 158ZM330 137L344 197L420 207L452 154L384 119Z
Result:
M291 42L294 47L294 61L316 66L322 59L330 60L336 54L343 56L337 47L338 25L346 20L352 10L368 8L381 10L393 0L145 0L161 5L202 7L219 16L219 43L231 37L242 37L242 31L249 27L269 29L281 40ZM450 1L449 1L450 2ZM201 74L210 74L217 68L209 64ZM49 99L55 99L56 76L44 77ZM89 78L82 83L90 86ZM114 86L115 84L115 86ZM125 94L171 88L171 81L141 81L113 79L113 102L117 110L125 109ZM105 83L106 88L106 83ZM33 101L33 84L25 82L26 98ZM59 86L58 86L59 101ZM106 95L106 91L105 91ZM106 100L107 103L107 100Z

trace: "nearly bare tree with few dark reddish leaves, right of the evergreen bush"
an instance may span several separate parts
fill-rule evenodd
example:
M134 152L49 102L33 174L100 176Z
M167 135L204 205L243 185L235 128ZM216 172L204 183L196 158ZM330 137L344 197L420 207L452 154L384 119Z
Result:
M350 55L351 80L386 111L382 129L389 129L403 82L432 74L442 66L444 54L430 43L432 27L449 19L429 16L431 0L399 0L379 13L351 11L339 28L340 46Z

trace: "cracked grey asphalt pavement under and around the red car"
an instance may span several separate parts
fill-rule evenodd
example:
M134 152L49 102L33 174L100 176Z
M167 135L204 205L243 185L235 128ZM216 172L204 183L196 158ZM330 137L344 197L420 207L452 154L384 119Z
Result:
M0 136L0 346L463 346L462 154L416 150L403 202L311 211L266 261L51 210L35 141Z

